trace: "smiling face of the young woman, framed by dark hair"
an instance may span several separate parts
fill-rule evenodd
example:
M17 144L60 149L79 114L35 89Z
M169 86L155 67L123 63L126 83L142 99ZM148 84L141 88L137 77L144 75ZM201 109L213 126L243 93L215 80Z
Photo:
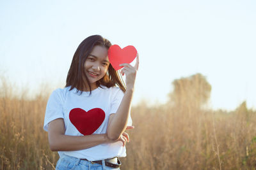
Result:
M90 81L92 90L97 88L96 81L107 73L108 66L108 49L105 46L94 46L84 62L85 74Z

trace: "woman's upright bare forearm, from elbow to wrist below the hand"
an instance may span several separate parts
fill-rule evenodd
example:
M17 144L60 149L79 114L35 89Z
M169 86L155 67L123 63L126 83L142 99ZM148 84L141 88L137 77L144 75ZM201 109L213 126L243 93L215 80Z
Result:
M129 112L131 110L133 89L127 89L116 113L111 117L108 124L108 138L116 140L125 131Z

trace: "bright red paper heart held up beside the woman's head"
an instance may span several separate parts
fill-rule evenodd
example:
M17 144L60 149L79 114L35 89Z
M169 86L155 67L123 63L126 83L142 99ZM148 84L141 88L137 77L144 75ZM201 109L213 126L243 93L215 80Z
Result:
M122 68L119 64L131 63L137 55L137 50L134 46L129 45L125 48L120 48L118 45L110 46L108 50L108 59L115 70Z

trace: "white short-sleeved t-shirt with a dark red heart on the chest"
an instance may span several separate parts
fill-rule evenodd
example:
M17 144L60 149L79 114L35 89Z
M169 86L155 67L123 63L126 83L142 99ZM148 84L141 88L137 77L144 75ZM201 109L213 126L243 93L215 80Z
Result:
M70 87L56 89L52 92L47 103L44 119L44 130L56 118L63 118L65 135L83 136L90 134L105 134L108 127L109 115L116 113L124 92L118 87L98 87L90 92L80 94L77 89ZM128 125L132 124L129 114ZM79 159L102 160L112 157L125 157L126 150L121 141L101 144L84 150L58 152Z

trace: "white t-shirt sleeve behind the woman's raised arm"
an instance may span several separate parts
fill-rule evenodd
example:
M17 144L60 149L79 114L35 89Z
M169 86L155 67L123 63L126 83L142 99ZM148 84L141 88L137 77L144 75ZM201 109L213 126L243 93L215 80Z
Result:
M116 113L123 97L124 97L124 92L121 89L118 89L117 92L115 93L113 99L112 99L111 112L110 113ZM132 125L131 112L129 113L129 118L128 118L128 124L127 125Z

